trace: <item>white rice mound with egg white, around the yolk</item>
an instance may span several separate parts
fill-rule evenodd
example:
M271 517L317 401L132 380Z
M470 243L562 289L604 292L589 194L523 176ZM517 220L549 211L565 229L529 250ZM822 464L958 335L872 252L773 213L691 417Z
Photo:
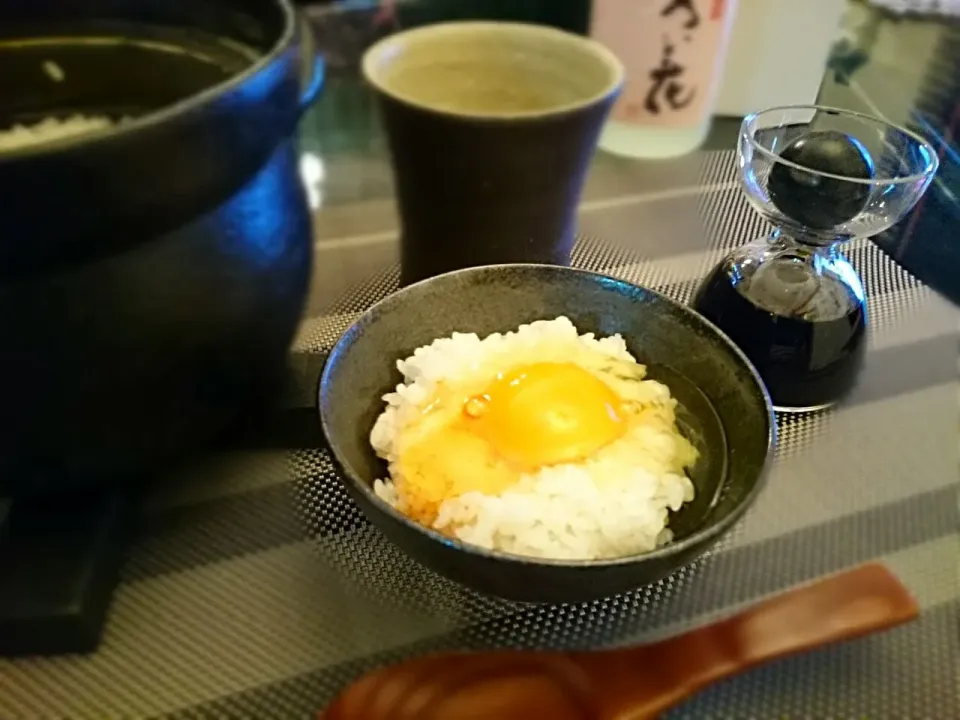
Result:
M586 457L517 470L515 478L503 470L507 465L497 465L501 489L472 490L473 478L481 486L485 481L481 460L488 456L464 453L479 441L459 449L436 441L442 437L437 433L457 422L464 398L531 363L575 365L601 380L623 403L620 434ZM676 400L665 385L645 379L646 369L619 335L581 335L559 317L482 339L455 333L417 348L397 368L404 381L384 396L386 407L370 435L390 472L374 490L450 537L544 559L623 557L669 542L669 511L694 497L685 469L697 452L676 427ZM405 462L412 449L429 462Z

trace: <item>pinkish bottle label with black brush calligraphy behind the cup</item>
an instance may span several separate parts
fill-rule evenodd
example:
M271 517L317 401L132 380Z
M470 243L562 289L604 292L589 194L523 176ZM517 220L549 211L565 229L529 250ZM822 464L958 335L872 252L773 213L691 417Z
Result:
M590 34L627 71L611 120L698 125L712 110L735 0L594 0Z

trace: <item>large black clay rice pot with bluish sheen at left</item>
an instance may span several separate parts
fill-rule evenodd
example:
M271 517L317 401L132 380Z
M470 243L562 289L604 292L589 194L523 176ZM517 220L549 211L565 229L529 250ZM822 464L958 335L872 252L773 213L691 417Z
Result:
M0 6L0 489L141 474L268 397L309 283L293 134L322 66L286 0Z

